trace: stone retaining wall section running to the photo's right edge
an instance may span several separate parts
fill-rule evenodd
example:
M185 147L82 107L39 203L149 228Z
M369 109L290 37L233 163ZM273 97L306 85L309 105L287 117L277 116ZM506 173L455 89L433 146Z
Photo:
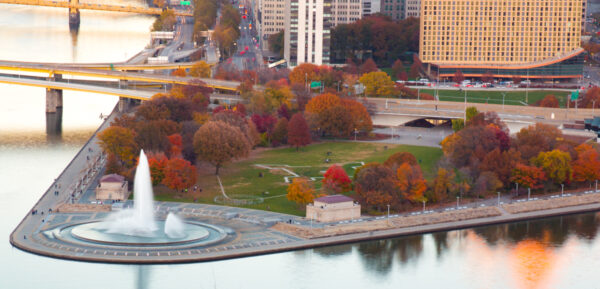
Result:
M600 203L600 194L570 196L550 200L537 200L521 203L505 204L502 207L511 214L531 211L556 209L584 204Z

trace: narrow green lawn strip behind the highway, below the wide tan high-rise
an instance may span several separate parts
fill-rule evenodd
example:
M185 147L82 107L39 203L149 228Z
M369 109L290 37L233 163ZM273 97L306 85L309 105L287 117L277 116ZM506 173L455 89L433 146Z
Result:
M421 89L421 92L435 95L434 89ZM466 90L467 101L475 103L492 103L502 104L502 91L485 91L485 90ZM558 102L561 107L565 107L566 98L569 95L567 91L556 91L556 90L532 90L529 91L528 104L534 105L537 101L542 100L546 95L553 94L558 98ZM458 101L462 102L465 100L465 90L438 90L438 95L442 101ZM506 105L524 105L525 103L525 91L506 91L506 97L504 103Z

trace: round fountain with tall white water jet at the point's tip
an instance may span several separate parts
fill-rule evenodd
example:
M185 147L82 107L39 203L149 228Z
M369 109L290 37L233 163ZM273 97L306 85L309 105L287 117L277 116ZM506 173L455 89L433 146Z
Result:
M169 212L166 219L154 216L154 195L148 159L142 150L135 171L133 208L109 215L100 222L64 227L60 238L110 246L207 245L220 242L226 233L216 226L184 221Z

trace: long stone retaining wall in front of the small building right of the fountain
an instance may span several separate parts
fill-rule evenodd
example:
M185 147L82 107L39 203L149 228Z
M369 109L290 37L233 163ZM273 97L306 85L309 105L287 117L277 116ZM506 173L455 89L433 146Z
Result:
M323 238L338 235L363 233L377 230L388 230L405 227L416 227L429 224L445 223L452 221L461 221L468 219L477 219L484 217L499 216L502 213L496 207L464 209L443 213L432 213L419 216L397 217L381 219L369 222L358 222L350 224L327 225L323 228L313 228L298 226L287 223L277 223L272 228L286 234L291 234L305 239Z

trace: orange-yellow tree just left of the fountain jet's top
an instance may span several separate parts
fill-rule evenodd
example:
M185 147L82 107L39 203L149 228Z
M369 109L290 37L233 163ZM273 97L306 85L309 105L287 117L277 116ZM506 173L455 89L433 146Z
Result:
M117 158L121 165L131 167L138 153L138 146L131 129L110 126L98 134L100 147Z

